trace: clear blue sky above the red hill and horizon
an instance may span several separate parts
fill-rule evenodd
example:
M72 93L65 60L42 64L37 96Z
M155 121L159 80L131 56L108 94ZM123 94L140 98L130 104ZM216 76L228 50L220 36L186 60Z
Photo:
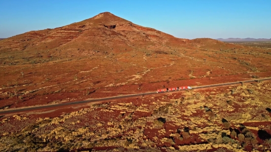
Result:
M271 0L0 0L0 38L106 11L179 38L271 38Z

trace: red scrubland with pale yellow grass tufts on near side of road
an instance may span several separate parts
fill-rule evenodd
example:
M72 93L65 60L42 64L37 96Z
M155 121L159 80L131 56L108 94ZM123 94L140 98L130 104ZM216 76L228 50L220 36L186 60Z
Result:
M0 151L270 151L270 108L271 82L255 82L94 104L56 118L7 115Z

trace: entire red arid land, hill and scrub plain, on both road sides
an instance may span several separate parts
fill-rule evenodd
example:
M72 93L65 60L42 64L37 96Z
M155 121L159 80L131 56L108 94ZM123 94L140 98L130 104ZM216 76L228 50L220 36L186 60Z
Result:
M0 152L271 151L269 81L120 98L270 78L270 43L249 46L110 12L3 39Z

